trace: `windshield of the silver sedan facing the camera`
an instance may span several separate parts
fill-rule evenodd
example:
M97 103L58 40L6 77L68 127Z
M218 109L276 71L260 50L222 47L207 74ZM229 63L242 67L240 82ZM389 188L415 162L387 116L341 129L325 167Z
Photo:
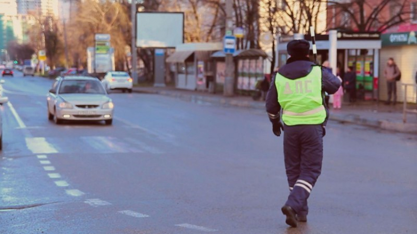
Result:
M62 81L59 93L91 93L105 94L103 85L98 81L91 80L67 80Z

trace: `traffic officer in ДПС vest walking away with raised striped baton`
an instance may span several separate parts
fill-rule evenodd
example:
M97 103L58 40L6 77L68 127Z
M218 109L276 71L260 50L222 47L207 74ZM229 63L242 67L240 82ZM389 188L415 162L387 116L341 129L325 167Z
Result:
M273 78L266 97L266 111L273 133L284 130L284 157L290 194L282 207L286 223L307 221L307 199L321 173L323 136L329 116L324 92L334 94L341 85L326 68L309 59L310 43L288 43L290 58ZM281 113L282 109L282 113ZM282 114L282 124L281 115Z

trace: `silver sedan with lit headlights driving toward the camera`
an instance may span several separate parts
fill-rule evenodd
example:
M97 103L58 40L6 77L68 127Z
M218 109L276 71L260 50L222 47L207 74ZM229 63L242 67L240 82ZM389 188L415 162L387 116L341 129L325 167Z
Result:
M97 120L113 123L114 105L94 77L58 77L47 95L48 119L61 124L64 120Z

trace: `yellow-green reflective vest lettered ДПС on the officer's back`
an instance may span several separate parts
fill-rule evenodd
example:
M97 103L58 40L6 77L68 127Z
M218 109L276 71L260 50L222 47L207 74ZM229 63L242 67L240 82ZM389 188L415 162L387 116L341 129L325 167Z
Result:
M325 121L327 114L323 106L320 66L313 66L307 76L296 80L278 73L275 86L286 125L318 125Z

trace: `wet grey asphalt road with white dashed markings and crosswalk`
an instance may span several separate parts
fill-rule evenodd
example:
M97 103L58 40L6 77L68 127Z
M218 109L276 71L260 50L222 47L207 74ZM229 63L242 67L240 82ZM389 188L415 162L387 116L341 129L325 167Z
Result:
M2 79L1 234L417 233L415 135L330 122L309 221L288 228L264 112L115 92L112 126L55 125L52 80Z

